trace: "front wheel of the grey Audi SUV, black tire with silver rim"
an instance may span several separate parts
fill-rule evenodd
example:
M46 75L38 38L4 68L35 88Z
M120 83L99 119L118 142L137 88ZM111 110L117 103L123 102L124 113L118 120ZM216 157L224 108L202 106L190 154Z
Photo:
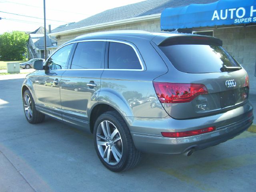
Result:
M34 100L29 90L23 94L23 110L26 119L31 124L41 123L44 121L45 115L36 110Z

